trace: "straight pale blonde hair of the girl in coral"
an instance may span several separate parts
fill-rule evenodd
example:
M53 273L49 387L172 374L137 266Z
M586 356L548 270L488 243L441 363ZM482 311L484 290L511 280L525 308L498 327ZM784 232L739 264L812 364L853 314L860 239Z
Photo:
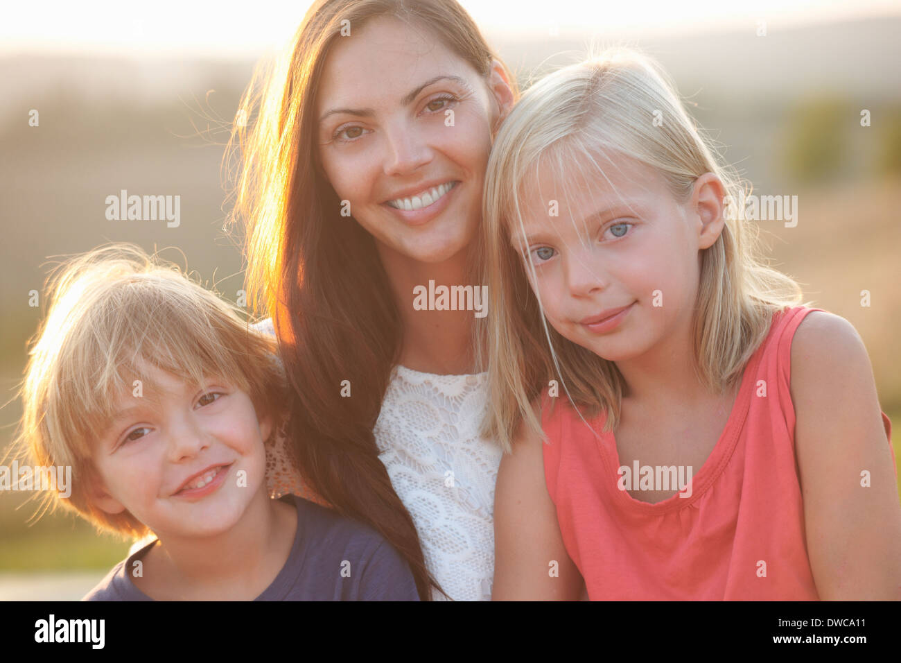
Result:
M605 412L605 429L619 419L624 385L616 365L547 325L524 271L534 270L532 262L508 238L511 228L523 227L523 190L534 189L542 166L565 184L574 180L576 163L580 178L590 182L603 180L605 167L615 168L623 155L658 170L681 202L707 172L723 182L727 196L743 199L738 178L717 163L665 74L635 51L604 51L551 73L523 94L492 147L474 252L492 311L480 324L477 343L491 394L483 433L505 450L523 421L541 432L533 403L551 380L560 381L588 416ZM583 162L592 167L586 171ZM722 391L740 377L772 314L800 298L795 281L763 262L757 235L727 218L722 234L702 252L694 320L701 381Z

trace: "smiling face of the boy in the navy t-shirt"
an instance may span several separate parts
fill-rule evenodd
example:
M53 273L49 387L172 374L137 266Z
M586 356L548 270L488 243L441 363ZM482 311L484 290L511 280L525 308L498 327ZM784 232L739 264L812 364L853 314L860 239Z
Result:
M213 377L203 387L147 368L161 393L121 396L120 416L94 446L94 500L130 511L166 537L231 529L263 487L270 431L250 396Z

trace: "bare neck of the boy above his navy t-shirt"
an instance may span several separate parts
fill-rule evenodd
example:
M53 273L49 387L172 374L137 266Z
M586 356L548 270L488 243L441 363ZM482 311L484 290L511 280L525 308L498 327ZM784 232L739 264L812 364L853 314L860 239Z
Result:
M154 586L160 598L184 595L189 587L191 598L252 600L285 566L296 522L291 505L270 500L260 487L241 520L220 535L186 539L160 533L151 550L153 566L146 565L144 576L159 583Z

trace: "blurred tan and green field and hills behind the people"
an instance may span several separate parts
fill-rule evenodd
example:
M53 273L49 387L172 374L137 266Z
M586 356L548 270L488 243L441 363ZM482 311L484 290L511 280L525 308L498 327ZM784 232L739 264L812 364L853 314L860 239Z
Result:
M669 69L754 193L798 196L796 227L760 223L769 255L803 283L806 299L858 329L882 408L896 427L901 75L893 63L901 60L899 30L901 21L891 19L790 34L773 29L769 41L721 34L638 44ZM496 40L522 72L552 52L582 45ZM9 93L0 105L0 221L4 245L14 247L0 266L0 455L20 415L14 388L41 317L41 308L28 306L29 291L41 290L48 256L114 240L149 250L176 247L165 255L235 299L241 256L222 230L228 206L221 124L232 118L251 64L0 60ZM39 127L27 124L32 108L40 111ZM861 108L872 113L869 127L860 126ZM107 221L105 197L120 189L180 195L181 225ZM861 290L869 290L869 308L860 305ZM899 437L895 428L896 458ZM28 587L34 598L77 598L124 557L128 543L100 536L70 515L28 524L34 507L23 506L26 497L0 493L0 599L27 594ZM43 575L24 584L18 576L36 573Z

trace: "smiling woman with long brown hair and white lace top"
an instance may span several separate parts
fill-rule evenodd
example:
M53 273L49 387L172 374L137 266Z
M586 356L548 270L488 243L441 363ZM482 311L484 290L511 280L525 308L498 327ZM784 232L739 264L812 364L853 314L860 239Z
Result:
M423 599L488 599L501 450L478 434L476 311L414 295L475 285L515 80L453 0L318 2L258 79L238 113L256 121L232 136L234 215L292 384L301 473L401 552Z

